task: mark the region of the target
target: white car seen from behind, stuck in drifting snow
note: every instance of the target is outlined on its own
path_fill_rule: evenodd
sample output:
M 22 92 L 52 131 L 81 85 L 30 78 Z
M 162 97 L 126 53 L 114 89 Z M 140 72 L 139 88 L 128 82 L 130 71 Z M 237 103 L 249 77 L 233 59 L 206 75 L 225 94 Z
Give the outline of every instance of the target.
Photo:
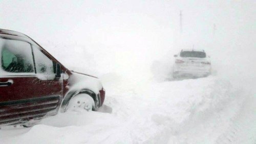
M 210 56 L 204 50 L 181 50 L 174 55 L 173 77 L 206 77 L 211 74 Z

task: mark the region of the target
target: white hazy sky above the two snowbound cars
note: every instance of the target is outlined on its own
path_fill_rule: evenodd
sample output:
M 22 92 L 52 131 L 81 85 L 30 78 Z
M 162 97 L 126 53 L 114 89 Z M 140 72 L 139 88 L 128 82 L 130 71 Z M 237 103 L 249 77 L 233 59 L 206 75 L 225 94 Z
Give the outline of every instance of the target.
M 172 57 L 180 49 L 193 45 L 208 51 L 216 63 L 229 61 L 226 63 L 229 65 L 240 63 L 241 59 L 246 63 L 254 60 L 255 8 L 253 0 L 2 0 L 0 28 L 23 32 L 39 43 L 83 45 L 100 57 L 99 61 L 105 61 L 99 62 L 99 66 L 114 63 L 115 67 L 121 67 L 119 71 L 148 66 L 153 60 Z

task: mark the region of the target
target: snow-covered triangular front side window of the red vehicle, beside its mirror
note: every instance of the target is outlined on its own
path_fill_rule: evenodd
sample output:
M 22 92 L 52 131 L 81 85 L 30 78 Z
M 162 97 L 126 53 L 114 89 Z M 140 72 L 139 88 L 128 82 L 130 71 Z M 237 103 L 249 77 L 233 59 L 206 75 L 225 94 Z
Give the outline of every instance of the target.
M 35 57 L 36 73 L 48 80 L 54 79 L 55 73 L 53 61 L 42 53 L 40 48 L 37 46 L 33 46 L 33 52 Z

